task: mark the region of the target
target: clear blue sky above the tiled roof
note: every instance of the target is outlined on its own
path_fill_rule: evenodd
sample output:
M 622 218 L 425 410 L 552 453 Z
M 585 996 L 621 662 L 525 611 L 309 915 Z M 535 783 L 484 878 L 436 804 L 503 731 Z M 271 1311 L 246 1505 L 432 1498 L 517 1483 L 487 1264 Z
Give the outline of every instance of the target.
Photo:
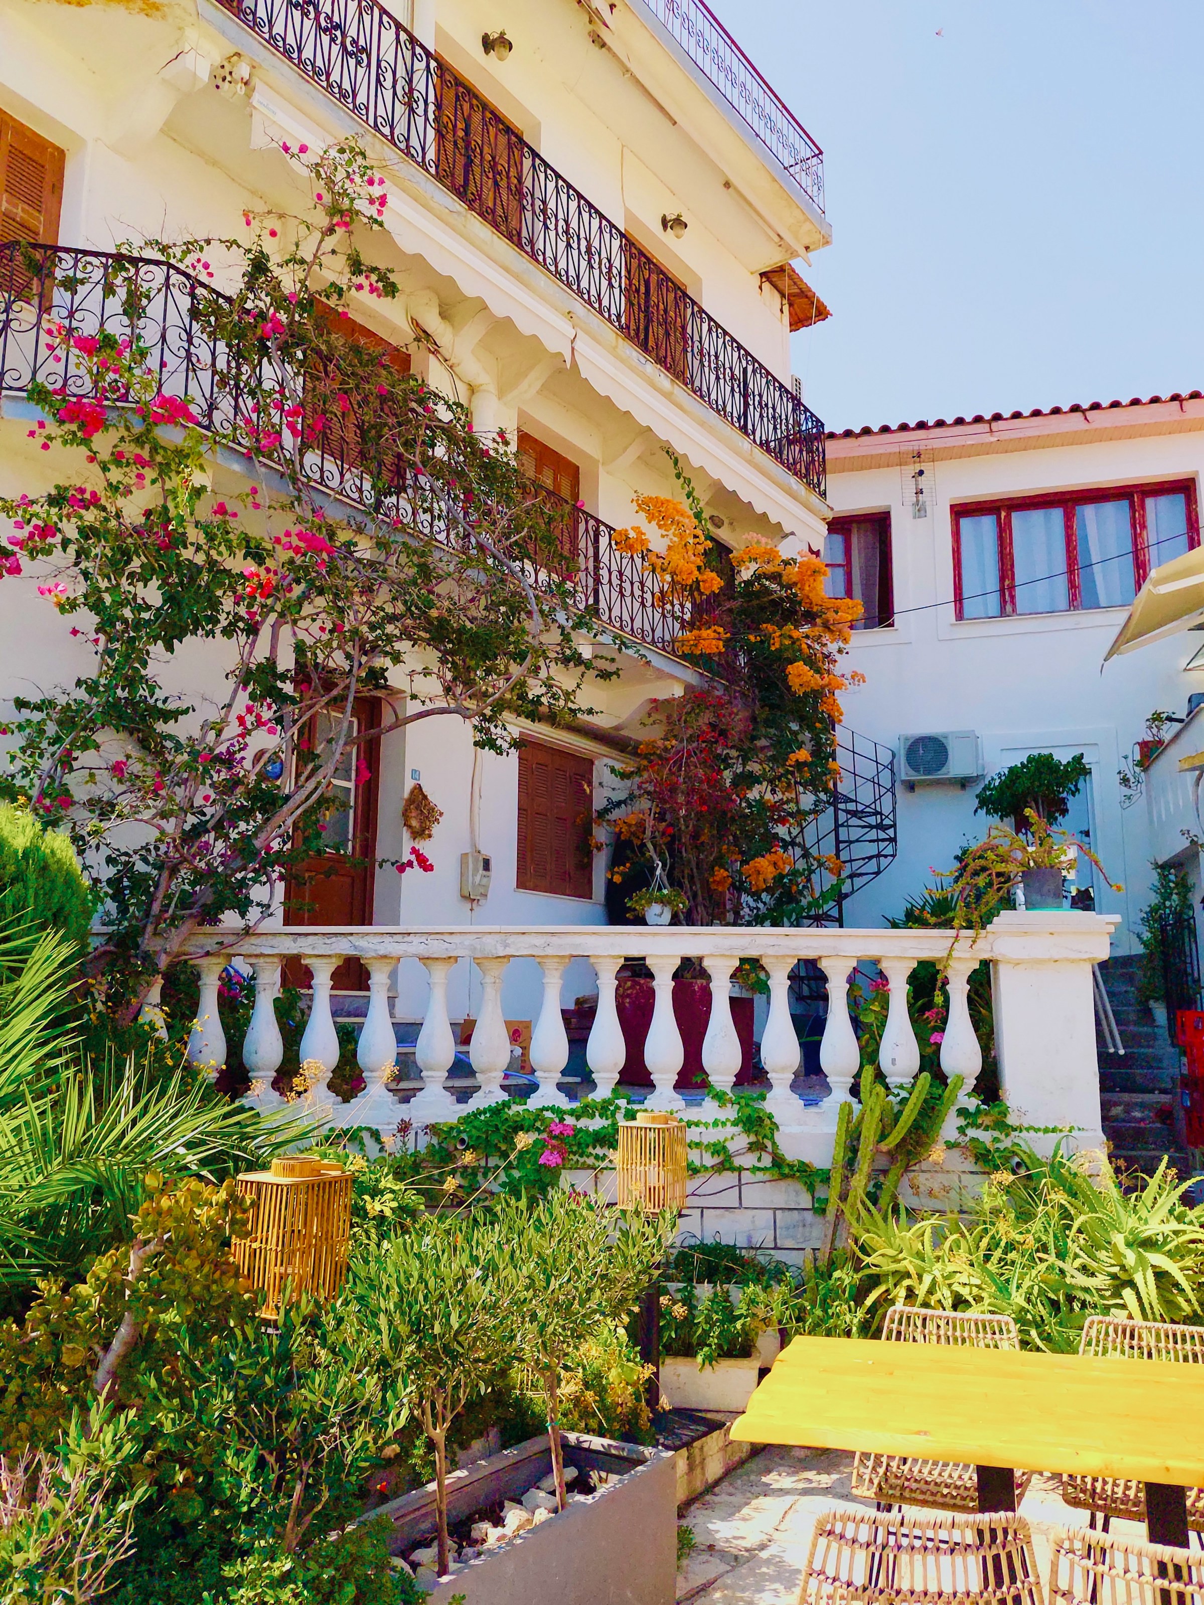
M 824 148 L 830 429 L 1204 388 L 1204 0 L 711 8 Z

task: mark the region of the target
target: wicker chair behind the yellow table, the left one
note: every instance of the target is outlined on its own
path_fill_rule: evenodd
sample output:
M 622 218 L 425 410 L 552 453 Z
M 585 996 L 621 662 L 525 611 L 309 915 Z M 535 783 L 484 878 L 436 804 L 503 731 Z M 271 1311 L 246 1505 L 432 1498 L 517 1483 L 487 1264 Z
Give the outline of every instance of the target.
M 950 1343 L 960 1348 L 1019 1348 L 1010 1314 L 950 1314 L 896 1305 L 886 1316 L 883 1342 Z M 1032 1472 L 1016 1472 L 1016 1502 L 1024 1497 Z M 852 1467 L 852 1493 L 877 1501 L 928 1505 L 934 1510 L 978 1510 L 978 1475 L 973 1465 L 954 1461 L 917 1461 L 902 1454 L 859 1454 Z

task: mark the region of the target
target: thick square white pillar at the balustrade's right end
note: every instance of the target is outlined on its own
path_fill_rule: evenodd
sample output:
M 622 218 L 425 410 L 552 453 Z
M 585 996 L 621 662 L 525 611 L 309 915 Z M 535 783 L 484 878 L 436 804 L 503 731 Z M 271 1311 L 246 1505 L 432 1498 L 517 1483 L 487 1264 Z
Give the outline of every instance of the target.
M 1119 921 L 1079 910 L 1008 912 L 989 926 L 1000 1093 L 1026 1125 L 1069 1127 L 1069 1148 L 1103 1148 L 1092 965 Z M 1027 1138 L 1048 1154 L 1056 1135 Z

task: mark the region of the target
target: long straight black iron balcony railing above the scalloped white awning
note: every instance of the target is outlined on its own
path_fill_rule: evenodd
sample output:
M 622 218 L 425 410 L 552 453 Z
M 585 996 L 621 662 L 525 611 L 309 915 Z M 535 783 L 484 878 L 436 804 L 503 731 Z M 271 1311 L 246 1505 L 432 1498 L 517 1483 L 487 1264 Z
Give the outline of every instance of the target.
M 816 414 L 379 0 L 222 3 L 824 496 Z

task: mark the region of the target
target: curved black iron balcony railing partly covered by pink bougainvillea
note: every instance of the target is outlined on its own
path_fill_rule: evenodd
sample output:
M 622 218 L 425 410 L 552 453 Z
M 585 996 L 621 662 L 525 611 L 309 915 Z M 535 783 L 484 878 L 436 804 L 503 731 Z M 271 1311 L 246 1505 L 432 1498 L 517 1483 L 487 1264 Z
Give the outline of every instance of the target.
M 24 395 L 42 380 L 69 396 L 95 395 L 92 374 L 58 329 L 71 335 L 109 331 L 141 347 L 148 371 L 159 374 L 167 395 L 188 400 L 202 429 L 250 448 L 255 421 L 247 396 L 255 387 L 239 382 L 236 364 L 212 332 L 215 302 L 222 300 L 220 291 L 149 257 L 2 244 L 0 392 Z M 294 388 L 303 395 L 305 376 Z M 413 472 L 369 472 L 350 432 L 308 451 L 302 469 L 310 483 L 352 507 L 398 514 L 409 528 L 446 544 L 464 534 L 462 506 Z M 682 608 L 658 602 L 641 559 L 615 546 L 612 525 L 552 499 L 560 502 L 559 552 L 551 562 L 547 554 L 531 555 L 535 583 L 552 576 L 568 581 L 576 602 L 592 607 L 604 624 L 673 652 L 677 634 L 697 623 L 694 613 L 687 618 Z

